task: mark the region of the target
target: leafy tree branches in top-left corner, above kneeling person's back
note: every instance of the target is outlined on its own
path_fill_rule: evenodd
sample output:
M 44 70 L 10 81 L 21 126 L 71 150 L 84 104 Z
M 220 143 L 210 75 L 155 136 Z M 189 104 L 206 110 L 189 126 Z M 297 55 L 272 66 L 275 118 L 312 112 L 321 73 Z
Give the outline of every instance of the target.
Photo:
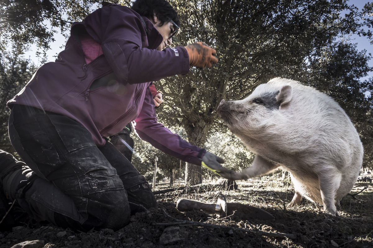
M 131 0 L 110 0 L 130 6 Z M 18 52 L 35 44 L 45 55 L 55 33 L 69 36 L 73 22 L 101 6 L 100 0 L 0 0 L 0 50 L 18 44 Z M 58 52 L 58 51 L 57 51 Z

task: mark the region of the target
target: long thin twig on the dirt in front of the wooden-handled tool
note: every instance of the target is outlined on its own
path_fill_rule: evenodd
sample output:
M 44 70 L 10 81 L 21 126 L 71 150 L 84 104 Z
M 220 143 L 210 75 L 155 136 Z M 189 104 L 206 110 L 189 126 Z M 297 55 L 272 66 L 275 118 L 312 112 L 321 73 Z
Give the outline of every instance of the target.
M 229 229 L 235 229 L 239 231 L 244 232 L 251 232 L 259 236 L 267 236 L 272 238 L 289 238 L 289 239 L 296 239 L 297 235 L 290 234 L 290 233 L 280 233 L 280 232 L 264 232 L 264 231 L 253 231 L 238 227 L 232 227 L 232 226 L 223 226 L 223 225 L 214 225 L 204 222 L 197 222 L 197 221 L 190 221 L 190 220 L 178 220 L 178 222 L 164 222 L 164 223 L 153 223 L 155 226 L 175 226 L 175 225 L 192 225 L 192 226 L 201 226 L 201 227 L 208 227 L 208 228 L 229 228 Z

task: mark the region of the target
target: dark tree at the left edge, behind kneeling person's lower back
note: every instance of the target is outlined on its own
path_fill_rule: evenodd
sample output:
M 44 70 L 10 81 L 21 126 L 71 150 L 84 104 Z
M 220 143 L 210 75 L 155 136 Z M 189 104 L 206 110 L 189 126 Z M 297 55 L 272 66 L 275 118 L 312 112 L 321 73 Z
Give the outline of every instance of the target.
M 0 149 L 15 154 L 9 141 L 9 108 L 6 103 L 12 99 L 32 77 L 36 67 L 17 52 L 0 52 Z

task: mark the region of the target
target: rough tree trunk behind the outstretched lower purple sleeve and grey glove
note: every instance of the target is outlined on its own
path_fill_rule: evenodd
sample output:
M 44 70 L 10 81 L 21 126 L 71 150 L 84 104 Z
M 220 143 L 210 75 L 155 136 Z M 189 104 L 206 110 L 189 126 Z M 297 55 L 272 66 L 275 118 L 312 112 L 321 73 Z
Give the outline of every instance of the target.
M 203 147 L 207 133 L 210 130 L 211 124 L 207 124 L 202 117 L 198 123 L 188 123 L 185 125 L 185 131 L 188 135 L 189 143 Z M 202 168 L 201 166 L 187 163 L 185 167 L 185 185 L 196 185 L 202 183 Z

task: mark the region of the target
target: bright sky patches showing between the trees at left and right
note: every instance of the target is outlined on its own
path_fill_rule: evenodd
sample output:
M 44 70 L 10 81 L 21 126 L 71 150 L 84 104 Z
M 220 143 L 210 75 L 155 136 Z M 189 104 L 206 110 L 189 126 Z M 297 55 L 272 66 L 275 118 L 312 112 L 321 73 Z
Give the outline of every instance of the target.
M 357 6 L 360 10 L 364 6 L 364 3 L 366 3 L 366 0 L 355 0 L 355 1 L 349 1 L 350 4 L 354 4 Z M 57 54 L 64 49 L 65 43 L 66 43 L 66 38 L 63 37 L 62 34 L 58 33 L 54 36 L 55 41 L 50 44 L 51 49 L 48 50 L 47 53 L 47 62 L 49 61 L 54 61 L 57 57 Z M 373 55 L 373 45 L 370 44 L 369 39 L 366 37 L 359 37 L 358 35 L 353 35 L 351 36 L 352 43 L 357 44 L 357 49 L 358 51 L 366 50 L 367 53 L 372 53 Z M 36 57 L 36 51 L 37 48 L 36 46 L 31 46 L 30 51 L 25 53 L 26 58 L 30 58 L 36 65 L 40 65 L 41 58 Z M 368 62 L 368 65 L 370 67 L 373 67 L 373 59 L 371 59 Z M 361 78 L 361 80 L 365 80 L 368 78 L 373 77 L 373 72 L 371 71 L 366 77 Z

